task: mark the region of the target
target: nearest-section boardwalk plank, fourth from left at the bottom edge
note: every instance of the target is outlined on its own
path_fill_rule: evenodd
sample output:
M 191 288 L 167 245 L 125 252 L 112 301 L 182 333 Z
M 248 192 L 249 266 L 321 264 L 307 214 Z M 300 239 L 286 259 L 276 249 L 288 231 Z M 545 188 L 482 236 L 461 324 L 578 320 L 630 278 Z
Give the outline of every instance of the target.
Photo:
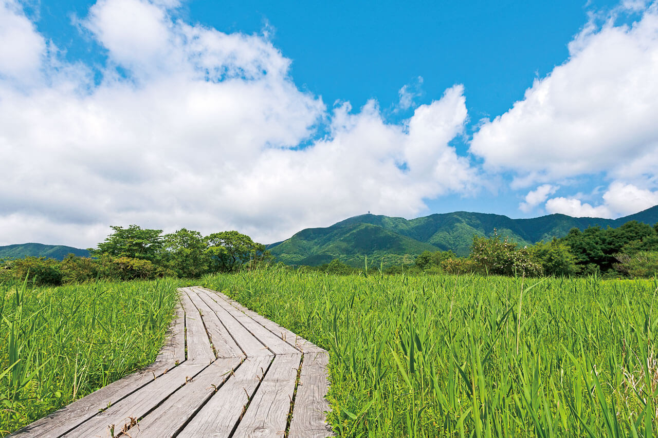
M 222 387 L 197 412 L 178 438 L 228 437 L 240 421 L 273 356 L 247 357 Z M 234 435 L 238 437 L 238 435 Z

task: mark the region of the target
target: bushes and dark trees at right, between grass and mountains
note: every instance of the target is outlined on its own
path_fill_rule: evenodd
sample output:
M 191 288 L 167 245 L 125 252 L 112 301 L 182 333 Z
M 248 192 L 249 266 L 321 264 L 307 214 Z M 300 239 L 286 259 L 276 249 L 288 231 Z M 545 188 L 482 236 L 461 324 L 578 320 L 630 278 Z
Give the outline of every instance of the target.
M 652 227 L 633 220 L 605 230 L 574 228 L 561 239 L 524 247 L 494 230 L 491 237 L 473 237 L 468 257 L 457 257 L 452 251 L 425 251 L 416 258 L 415 271 L 647 278 L 658 272 L 658 224 Z

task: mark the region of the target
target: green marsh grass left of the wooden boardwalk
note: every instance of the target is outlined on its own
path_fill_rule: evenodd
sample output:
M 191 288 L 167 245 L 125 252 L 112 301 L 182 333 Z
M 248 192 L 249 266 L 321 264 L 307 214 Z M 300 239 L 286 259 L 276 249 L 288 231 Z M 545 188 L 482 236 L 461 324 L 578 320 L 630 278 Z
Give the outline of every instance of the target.
M 178 283 L 0 284 L 0 436 L 151 364 Z

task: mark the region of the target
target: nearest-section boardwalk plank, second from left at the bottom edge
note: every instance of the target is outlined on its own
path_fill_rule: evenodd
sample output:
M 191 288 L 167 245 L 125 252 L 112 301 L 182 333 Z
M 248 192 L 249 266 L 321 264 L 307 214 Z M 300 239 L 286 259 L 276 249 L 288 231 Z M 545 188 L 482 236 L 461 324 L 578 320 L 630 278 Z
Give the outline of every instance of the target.
M 189 364 L 177 366 L 170 372 L 158 377 L 145 387 L 132 393 L 125 399 L 113 404 L 103 412 L 90 418 L 72 431 L 66 433 L 68 438 L 88 438 L 111 436 L 111 428 L 114 434 L 118 434 L 125 424 L 130 425 L 131 419 L 137 420 L 151 412 L 164 399 L 176 392 L 187 381 L 193 379 L 199 372 L 207 368 L 209 364 Z

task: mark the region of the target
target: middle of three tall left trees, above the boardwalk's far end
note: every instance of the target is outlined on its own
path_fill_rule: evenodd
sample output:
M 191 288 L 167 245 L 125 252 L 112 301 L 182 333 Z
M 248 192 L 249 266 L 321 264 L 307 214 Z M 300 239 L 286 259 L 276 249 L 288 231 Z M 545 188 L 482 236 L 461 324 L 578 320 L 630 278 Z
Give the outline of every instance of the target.
M 208 245 L 199 231 L 182 228 L 175 233 L 165 234 L 163 247 L 166 251 L 167 264 L 176 276 L 197 278 L 207 271 Z

